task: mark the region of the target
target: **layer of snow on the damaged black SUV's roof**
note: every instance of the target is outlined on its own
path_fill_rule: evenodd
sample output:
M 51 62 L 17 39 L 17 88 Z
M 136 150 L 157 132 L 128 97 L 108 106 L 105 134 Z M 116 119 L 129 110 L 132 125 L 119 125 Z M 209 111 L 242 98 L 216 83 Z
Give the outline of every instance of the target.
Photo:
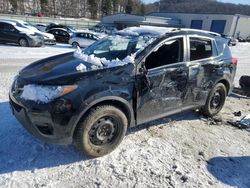
M 118 35 L 130 35 L 130 36 L 140 36 L 140 35 L 161 36 L 173 31 L 174 29 L 176 28 L 140 26 L 140 27 L 128 27 L 116 33 Z

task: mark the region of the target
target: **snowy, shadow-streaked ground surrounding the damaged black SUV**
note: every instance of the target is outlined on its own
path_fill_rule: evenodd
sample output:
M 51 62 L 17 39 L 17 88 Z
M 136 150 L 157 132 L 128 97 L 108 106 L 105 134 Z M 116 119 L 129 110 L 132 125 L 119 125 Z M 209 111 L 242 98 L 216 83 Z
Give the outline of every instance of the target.
M 71 50 L 40 50 L 47 48 L 41 53 Z M 73 146 L 35 139 L 11 114 L 8 89 L 20 62 L 31 58 L 27 52 L 12 61 L 19 50 L 0 46 L 5 63 L 11 62 L 2 65 L 0 55 L 0 187 L 250 187 L 250 133 L 225 123 L 235 111 L 250 113 L 249 98 L 228 97 L 222 123 L 188 112 L 129 129 L 113 153 L 90 159 Z M 250 44 L 232 51 L 239 59 L 237 76 L 249 74 Z

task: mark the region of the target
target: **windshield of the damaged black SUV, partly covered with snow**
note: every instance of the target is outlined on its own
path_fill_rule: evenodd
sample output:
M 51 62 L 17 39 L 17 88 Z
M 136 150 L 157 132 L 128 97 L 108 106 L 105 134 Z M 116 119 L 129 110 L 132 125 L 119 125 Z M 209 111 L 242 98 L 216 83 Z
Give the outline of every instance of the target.
M 83 52 L 86 55 L 94 55 L 107 60 L 122 60 L 143 50 L 154 39 L 150 36 L 110 36 L 95 42 Z

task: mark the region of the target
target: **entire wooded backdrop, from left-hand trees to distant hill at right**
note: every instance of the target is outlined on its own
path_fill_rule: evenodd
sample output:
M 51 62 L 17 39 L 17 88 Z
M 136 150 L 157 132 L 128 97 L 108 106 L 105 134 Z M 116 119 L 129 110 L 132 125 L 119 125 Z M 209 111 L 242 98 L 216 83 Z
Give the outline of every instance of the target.
M 115 13 L 144 15 L 149 12 L 225 13 L 250 15 L 249 5 L 216 0 L 0 0 L 0 13 L 38 16 L 101 18 Z

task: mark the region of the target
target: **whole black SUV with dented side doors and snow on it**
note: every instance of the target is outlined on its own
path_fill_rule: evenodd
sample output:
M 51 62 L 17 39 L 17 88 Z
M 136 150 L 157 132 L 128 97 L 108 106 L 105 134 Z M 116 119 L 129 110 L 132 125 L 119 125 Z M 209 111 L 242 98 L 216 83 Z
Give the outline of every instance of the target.
M 214 116 L 231 92 L 237 60 L 216 33 L 127 28 L 81 51 L 32 63 L 10 104 L 35 137 L 98 157 L 127 128 L 190 109 Z

